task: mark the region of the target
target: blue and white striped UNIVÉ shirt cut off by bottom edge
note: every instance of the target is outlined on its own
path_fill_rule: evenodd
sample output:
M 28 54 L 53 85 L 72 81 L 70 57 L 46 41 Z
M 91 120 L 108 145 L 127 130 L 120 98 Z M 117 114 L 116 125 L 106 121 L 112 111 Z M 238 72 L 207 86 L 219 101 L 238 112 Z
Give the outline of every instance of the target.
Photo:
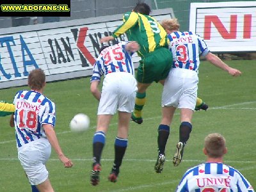
M 253 192 L 251 184 L 231 166 L 204 163 L 189 169 L 176 192 Z

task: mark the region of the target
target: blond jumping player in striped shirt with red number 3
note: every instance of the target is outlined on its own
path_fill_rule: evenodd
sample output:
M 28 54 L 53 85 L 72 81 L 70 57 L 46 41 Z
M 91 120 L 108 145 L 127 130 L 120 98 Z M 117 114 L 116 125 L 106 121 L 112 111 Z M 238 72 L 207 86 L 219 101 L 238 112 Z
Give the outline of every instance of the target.
M 225 70 L 231 76 L 237 77 L 241 72 L 229 67 L 212 54 L 204 40 L 191 31 L 179 31 L 177 19 L 166 19 L 161 22 L 170 40 L 170 51 L 173 54 L 173 65 L 162 94 L 162 120 L 158 127 L 158 156 L 155 165 L 156 173 L 163 171 L 165 161 L 165 147 L 170 134 L 170 125 L 177 108 L 180 109 L 179 142 L 173 156 L 174 166 L 182 160 L 184 147 L 192 131 L 192 116 L 196 106 L 198 90 L 199 56 L 204 56 L 212 65 Z

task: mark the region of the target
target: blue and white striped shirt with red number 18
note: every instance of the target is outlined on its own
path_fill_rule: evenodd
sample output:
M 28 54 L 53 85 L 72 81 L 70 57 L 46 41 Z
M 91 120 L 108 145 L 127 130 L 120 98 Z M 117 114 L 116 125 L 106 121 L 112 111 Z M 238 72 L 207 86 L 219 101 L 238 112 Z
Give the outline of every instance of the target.
M 55 104 L 42 93 L 21 90 L 16 93 L 14 122 L 17 148 L 26 143 L 46 138 L 43 124 L 55 125 Z

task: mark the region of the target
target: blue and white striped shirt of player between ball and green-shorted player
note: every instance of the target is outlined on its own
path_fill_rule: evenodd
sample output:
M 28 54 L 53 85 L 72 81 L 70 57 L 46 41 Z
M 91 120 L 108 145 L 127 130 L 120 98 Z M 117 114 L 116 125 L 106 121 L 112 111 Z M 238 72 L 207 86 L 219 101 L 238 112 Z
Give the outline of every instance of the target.
M 134 65 L 131 58 L 134 52 L 125 51 L 125 44 L 127 43 L 120 42 L 100 52 L 93 66 L 91 82 L 100 81 L 101 76 L 106 76 L 112 72 L 128 72 L 134 76 Z

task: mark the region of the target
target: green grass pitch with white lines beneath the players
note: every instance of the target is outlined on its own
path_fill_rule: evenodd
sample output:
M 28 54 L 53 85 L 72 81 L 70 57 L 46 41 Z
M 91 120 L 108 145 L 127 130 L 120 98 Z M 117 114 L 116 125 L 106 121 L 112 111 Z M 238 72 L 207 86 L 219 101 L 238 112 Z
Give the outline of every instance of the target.
M 208 111 L 196 111 L 193 131 L 184 151 L 184 161 L 174 167 L 172 156 L 179 139 L 179 111 L 175 114 L 166 147 L 164 171 L 154 172 L 157 157 L 157 127 L 161 120 L 161 84 L 152 84 L 147 91 L 147 104 L 141 125 L 131 122 L 129 145 L 118 177 L 118 182 L 108 181 L 114 156 L 116 115 L 113 117 L 102 154 L 102 172 L 99 186 L 91 186 L 92 138 L 96 125 L 97 100 L 90 93 L 90 78 L 48 83 L 45 95 L 56 103 L 56 127 L 60 145 L 72 159 L 72 168 L 63 168 L 54 150 L 47 163 L 49 178 L 55 191 L 175 191 L 183 173 L 205 161 L 202 153 L 204 138 L 219 132 L 227 140 L 228 154 L 225 163 L 237 168 L 256 188 L 255 110 L 256 61 L 227 61 L 239 68 L 243 75 L 231 77 L 227 72 L 202 62 L 199 72 L 198 97 L 209 104 Z M 12 102 L 20 89 L 0 90 L 1 100 Z M 90 129 L 82 134 L 70 132 L 68 124 L 76 113 L 90 116 Z M 14 129 L 9 127 L 9 116 L 0 118 L 0 191 L 31 191 L 19 160 Z

